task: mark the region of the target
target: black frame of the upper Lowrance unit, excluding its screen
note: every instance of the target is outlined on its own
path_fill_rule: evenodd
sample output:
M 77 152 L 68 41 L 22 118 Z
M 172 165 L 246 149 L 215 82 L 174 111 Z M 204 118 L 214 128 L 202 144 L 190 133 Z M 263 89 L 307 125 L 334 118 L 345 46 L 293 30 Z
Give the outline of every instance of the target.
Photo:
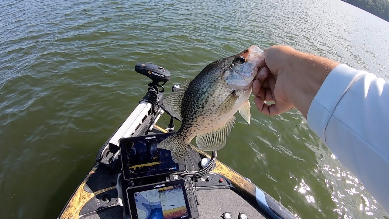
M 177 132 L 177 131 L 175 131 L 175 132 Z M 121 157 L 121 164 L 122 164 L 122 173 L 123 173 L 124 180 L 131 180 L 131 179 L 143 178 L 143 177 L 151 177 L 151 176 L 168 174 L 168 173 L 173 173 L 173 172 L 178 172 L 178 171 L 185 170 L 185 161 L 182 161 L 179 164 L 176 163 L 175 167 L 177 167 L 177 169 L 175 169 L 175 170 L 169 170 L 169 169 L 155 170 L 155 171 L 153 171 L 152 175 L 148 174 L 150 172 L 132 173 L 132 174 L 130 174 L 130 170 L 128 170 L 128 159 L 127 159 L 127 157 L 124 157 L 124 158 L 122 157 L 124 152 L 126 154 L 126 151 L 127 151 L 126 145 L 129 144 L 129 143 L 130 144 L 135 144 L 135 143 L 144 142 L 144 141 L 163 140 L 163 139 L 167 138 L 168 136 L 170 136 L 171 134 L 173 134 L 175 132 L 166 132 L 166 133 L 149 134 L 149 135 L 142 135 L 142 136 L 129 137 L 129 138 L 120 138 L 119 139 L 119 150 L 120 150 L 120 157 Z M 155 136 L 155 138 L 145 139 L 145 138 L 150 138 L 150 137 L 154 137 L 154 136 Z M 130 150 L 131 150 L 131 148 L 130 148 Z M 165 149 L 158 148 L 158 150 L 165 150 Z

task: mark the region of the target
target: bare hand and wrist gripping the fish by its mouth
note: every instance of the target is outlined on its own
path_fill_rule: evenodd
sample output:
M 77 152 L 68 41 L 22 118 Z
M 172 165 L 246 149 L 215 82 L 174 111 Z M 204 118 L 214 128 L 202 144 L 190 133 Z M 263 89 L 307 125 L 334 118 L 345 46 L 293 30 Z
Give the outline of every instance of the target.
M 272 46 L 264 52 L 263 67 L 252 85 L 256 107 L 266 115 L 278 115 L 296 107 L 307 118 L 317 91 L 338 64 L 290 46 Z M 268 105 L 265 101 L 275 103 Z

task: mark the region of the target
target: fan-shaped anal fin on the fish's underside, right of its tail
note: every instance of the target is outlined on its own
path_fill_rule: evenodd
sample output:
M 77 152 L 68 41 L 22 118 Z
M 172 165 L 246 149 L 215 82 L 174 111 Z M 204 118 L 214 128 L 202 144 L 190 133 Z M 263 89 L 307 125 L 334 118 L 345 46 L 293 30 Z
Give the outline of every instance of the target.
M 234 127 L 235 117 L 232 116 L 222 127 L 214 131 L 198 135 L 196 137 L 197 147 L 205 151 L 220 150 L 226 145 L 231 128 Z

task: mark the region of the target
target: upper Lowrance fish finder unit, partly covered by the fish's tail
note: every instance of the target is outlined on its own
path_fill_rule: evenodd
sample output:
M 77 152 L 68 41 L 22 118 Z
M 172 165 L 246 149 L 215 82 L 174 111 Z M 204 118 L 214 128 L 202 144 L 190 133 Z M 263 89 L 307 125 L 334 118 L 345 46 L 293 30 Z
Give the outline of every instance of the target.
M 157 148 L 159 142 L 174 132 L 144 135 L 119 140 L 124 180 L 185 170 L 185 163 L 175 163 L 170 150 Z

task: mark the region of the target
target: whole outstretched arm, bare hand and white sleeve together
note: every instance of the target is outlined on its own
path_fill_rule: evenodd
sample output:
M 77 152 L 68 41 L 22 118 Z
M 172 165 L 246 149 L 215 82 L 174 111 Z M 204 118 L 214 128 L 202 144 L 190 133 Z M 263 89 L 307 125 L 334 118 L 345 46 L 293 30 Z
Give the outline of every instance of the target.
M 259 111 L 277 115 L 294 105 L 389 211 L 389 82 L 288 46 L 265 50 L 265 62 L 273 75 L 253 84 Z M 266 105 L 266 99 L 275 104 Z

